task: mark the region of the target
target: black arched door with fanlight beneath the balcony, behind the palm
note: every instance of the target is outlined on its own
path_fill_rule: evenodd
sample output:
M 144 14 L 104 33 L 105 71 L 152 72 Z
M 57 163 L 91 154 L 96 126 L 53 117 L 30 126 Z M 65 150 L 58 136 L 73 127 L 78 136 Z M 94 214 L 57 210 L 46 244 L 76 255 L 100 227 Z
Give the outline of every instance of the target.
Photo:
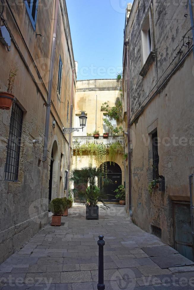
M 115 198 L 115 189 L 122 184 L 122 171 L 120 166 L 115 162 L 105 162 L 101 165 L 104 172 L 107 172 L 107 177 L 112 181 L 112 184 L 104 187 L 104 192 L 107 194 L 105 202 L 118 203 L 118 199 Z M 101 185 L 101 184 L 100 184 Z

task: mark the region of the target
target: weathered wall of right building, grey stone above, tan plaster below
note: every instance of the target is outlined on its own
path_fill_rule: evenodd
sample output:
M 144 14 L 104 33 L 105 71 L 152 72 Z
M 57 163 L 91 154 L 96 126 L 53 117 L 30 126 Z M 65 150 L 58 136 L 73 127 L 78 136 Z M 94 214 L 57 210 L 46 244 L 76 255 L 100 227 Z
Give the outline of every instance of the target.
M 139 75 L 144 65 L 141 29 L 149 10 L 155 60 L 142 77 Z M 185 14 L 188 16 L 184 17 Z M 172 200 L 189 201 L 188 175 L 193 171 L 194 61 L 192 50 L 187 45 L 182 47 L 182 36 L 191 26 L 189 15 L 187 4 L 134 1 L 126 28 L 130 59 L 133 220 L 147 231 L 151 231 L 151 225 L 161 228 L 162 240 L 172 246 Z M 190 31 L 186 36 L 191 34 Z M 181 47 L 181 53 L 177 54 Z M 125 88 L 126 82 L 123 84 Z M 150 134 L 156 128 L 159 175 L 165 177 L 166 190 L 161 193 L 156 189 L 150 195 L 147 189 L 153 179 Z

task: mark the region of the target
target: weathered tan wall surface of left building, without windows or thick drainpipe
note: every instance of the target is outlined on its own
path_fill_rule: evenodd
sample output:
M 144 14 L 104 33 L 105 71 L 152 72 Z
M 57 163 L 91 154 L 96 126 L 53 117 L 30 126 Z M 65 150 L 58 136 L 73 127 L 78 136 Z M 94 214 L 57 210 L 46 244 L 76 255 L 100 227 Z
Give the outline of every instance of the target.
M 58 165 L 55 176 L 53 175 L 56 187 L 52 194 L 53 197 L 66 194 L 64 171 L 67 170 L 69 136 L 63 135 L 62 128 L 69 126 L 67 100 L 69 100 L 70 116 L 74 59 L 67 11 L 63 1 L 60 1 L 58 12 L 48 155 L 47 160 L 42 162 L 54 13 L 55 1 L 49 1 L 49 4 L 47 1 L 41 1 L 38 7 L 36 31 L 34 31 L 25 4 L 13 5 L 12 3 L 10 9 L 5 5 L 3 14 L 5 22 L 1 22 L 1 25 L 5 24 L 9 29 L 12 45 L 11 51 L 8 52 L 0 43 L 0 91 L 7 91 L 10 67 L 18 66 L 14 95 L 24 114 L 18 182 L 9 182 L 5 181 L 4 167 L 11 110 L 0 110 L 0 262 L 19 249 L 48 222 L 50 157 L 54 142 L 58 147 Z M 42 36 L 36 37 L 36 33 Z M 63 61 L 60 101 L 56 91 L 59 54 Z M 73 106 L 75 84 L 76 75 L 74 75 Z M 53 119 L 56 120 L 55 128 L 53 128 Z M 39 144 L 33 144 L 34 139 L 39 140 Z M 62 158 L 61 153 L 64 153 Z

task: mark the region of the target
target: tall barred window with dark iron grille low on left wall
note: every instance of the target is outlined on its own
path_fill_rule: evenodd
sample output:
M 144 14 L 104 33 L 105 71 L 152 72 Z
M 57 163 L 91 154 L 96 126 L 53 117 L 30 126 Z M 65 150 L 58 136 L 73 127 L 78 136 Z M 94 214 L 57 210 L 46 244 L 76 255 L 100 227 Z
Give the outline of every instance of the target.
M 10 119 L 5 180 L 18 181 L 23 111 L 14 103 Z

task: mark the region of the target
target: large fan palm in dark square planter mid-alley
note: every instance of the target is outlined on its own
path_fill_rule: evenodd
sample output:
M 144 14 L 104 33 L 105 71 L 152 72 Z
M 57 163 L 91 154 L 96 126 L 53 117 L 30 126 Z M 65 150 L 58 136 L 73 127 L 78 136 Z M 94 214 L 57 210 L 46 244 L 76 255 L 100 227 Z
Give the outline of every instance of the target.
M 70 181 L 74 183 L 72 191 L 74 195 L 78 196 L 80 202 L 86 206 L 87 220 L 98 220 L 99 207 L 104 210 L 109 208 L 104 203 L 106 196 L 103 186 L 101 188 L 97 186 L 98 180 L 102 181 L 103 186 L 111 184 L 105 173 L 100 168 L 92 167 L 92 165 L 83 167 L 80 170 L 72 169 L 70 173 Z

